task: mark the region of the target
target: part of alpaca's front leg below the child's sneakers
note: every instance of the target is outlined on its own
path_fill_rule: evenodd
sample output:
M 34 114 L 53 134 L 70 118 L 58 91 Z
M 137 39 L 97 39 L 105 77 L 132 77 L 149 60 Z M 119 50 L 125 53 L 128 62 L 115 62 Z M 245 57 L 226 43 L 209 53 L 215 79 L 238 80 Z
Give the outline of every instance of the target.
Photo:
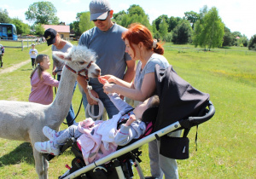
M 35 159 L 36 170 L 38 173 L 39 179 L 47 179 L 48 178 L 48 162 L 45 161 L 42 153 L 38 153 L 38 151 L 33 148 L 33 155 Z M 45 165 L 47 163 L 47 165 Z

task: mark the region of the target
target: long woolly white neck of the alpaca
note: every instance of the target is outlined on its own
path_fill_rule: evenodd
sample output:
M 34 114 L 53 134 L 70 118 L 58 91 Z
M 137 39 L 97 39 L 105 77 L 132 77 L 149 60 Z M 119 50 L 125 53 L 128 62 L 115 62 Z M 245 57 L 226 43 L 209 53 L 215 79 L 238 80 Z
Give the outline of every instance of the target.
M 50 109 L 55 112 L 55 124 L 61 125 L 64 118 L 67 117 L 71 101 L 73 98 L 73 86 L 76 81 L 76 75 L 63 67 L 61 72 L 61 81 L 55 96 L 55 100 L 50 105 Z

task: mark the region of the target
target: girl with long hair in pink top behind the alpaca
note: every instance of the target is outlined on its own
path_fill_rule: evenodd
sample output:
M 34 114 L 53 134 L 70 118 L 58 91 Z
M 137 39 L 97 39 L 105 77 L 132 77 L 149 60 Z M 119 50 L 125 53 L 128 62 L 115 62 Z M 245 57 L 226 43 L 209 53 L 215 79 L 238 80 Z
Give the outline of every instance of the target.
M 37 102 L 49 105 L 53 101 L 53 86 L 58 87 L 59 81 L 51 77 L 49 72 L 49 56 L 38 55 L 36 58 L 36 68 L 31 73 L 31 93 L 29 95 L 30 102 Z

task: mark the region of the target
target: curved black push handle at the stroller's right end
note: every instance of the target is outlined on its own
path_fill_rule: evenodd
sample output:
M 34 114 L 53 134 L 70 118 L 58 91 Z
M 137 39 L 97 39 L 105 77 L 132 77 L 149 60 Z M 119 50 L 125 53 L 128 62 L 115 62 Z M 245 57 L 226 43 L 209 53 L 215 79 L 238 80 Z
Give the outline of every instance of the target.
M 202 123 L 206 122 L 207 120 L 212 118 L 212 116 L 215 113 L 215 107 L 213 106 L 212 101 L 209 101 L 207 107 L 209 107 L 209 110 L 207 110 L 206 115 L 201 116 L 201 117 L 189 117 L 187 119 L 183 119 L 183 120 L 179 121 L 179 123 L 181 124 L 181 126 L 183 128 L 191 128 L 195 125 L 202 124 Z

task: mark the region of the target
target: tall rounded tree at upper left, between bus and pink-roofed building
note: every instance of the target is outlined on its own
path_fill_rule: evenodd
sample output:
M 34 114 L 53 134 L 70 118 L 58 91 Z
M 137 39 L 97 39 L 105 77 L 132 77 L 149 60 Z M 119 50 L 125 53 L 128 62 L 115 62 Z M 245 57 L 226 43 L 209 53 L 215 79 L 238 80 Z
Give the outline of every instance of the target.
M 26 20 L 33 21 L 35 24 L 59 24 L 56 16 L 57 10 L 50 2 L 32 3 L 26 11 Z

